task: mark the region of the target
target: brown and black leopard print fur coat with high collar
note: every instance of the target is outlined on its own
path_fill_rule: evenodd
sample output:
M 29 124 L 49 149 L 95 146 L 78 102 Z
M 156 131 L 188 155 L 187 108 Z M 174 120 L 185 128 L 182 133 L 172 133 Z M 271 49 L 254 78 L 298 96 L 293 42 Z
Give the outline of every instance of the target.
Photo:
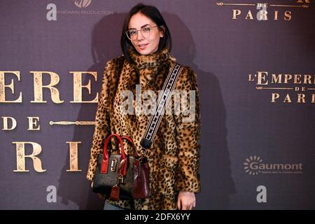
M 106 64 L 87 171 L 87 179 L 90 181 L 94 178 L 97 158 L 102 153 L 104 141 L 109 134 L 127 135 L 133 139 L 136 148 L 141 149 L 140 141 L 150 115 L 120 113 L 120 105 L 123 105 L 125 100 L 120 94 L 124 90 L 130 90 L 135 96 L 138 85 L 141 92 L 153 90 L 158 96 L 158 90 L 162 89 L 169 69 L 176 61 L 167 49 L 151 55 L 139 55 L 134 48 L 130 48 L 129 52 L 134 63 L 131 64 L 124 56 L 120 56 Z M 151 197 L 118 202 L 108 200 L 111 204 L 125 209 L 176 209 L 179 191 L 200 192 L 200 101 L 193 69 L 184 66 L 174 90 L 195 90 L 195 111 L 189 115 L 181 111 L 177 114 L 165 113 L 163 116 L 153 144 L 146 151 L 150 167 Z M 144 98 L 141 97 L 141 105 L 148 100 Z M 176 105 L 174 98 L 172 97 L 169 103 L 172 109 Z M 183 99 L 186 99 L 186 102 L 183 102 Z M 189 105 L 190 98 L 183 99 L 181 104 Z M 133 104 L 136 105 L 135 99 Z M 183 122 L 185 117 L 192 115 L 193 120 Z M 127 154 L 133 150 L 125 144 Z

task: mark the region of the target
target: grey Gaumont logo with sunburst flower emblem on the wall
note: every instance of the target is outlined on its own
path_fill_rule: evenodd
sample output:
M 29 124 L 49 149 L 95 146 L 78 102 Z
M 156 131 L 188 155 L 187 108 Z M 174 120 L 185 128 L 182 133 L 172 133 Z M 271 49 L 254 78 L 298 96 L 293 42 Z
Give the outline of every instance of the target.
M 246 158 L 243 165 L 246 174 L 253 176 L 258 174 L 302 174 L 302 163 L 267 163 L 256 155 Z

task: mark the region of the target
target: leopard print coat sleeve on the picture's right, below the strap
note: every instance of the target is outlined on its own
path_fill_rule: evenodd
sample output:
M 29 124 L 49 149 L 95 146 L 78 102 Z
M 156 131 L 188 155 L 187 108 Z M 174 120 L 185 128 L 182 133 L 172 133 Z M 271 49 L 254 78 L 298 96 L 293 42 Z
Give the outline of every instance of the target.
M 179 165 L 176 171 L 176 190 L 199 193 L 200 188 L 200 99 L 197 77 L 193 69 L 185 67 L 176 83 L 177 90 L 186 90 L 188 97 L 183 98 L 181 106 L 188 105 L 186 110 L 175 116 L 176 141 L 178 146 Z M 193 91 L 190 91 L 193 90 Z M 193 97 L 195 94 L 195 100 Z M 191 100 L 190 100 L 191 99 Z M 190 107 L 190 109 L 189 109 Z

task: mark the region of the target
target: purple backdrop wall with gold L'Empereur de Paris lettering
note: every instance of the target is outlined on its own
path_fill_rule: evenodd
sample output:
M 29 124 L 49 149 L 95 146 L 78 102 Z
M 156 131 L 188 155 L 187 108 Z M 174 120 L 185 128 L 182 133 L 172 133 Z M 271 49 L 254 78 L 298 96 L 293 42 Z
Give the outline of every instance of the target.
M 139 1 L 0 1 L 0 209 L 102 209 L 85 179 L 104 64 Z M 315 209 L 312 0 L 142 1 L 197 73 L 197 209 Z

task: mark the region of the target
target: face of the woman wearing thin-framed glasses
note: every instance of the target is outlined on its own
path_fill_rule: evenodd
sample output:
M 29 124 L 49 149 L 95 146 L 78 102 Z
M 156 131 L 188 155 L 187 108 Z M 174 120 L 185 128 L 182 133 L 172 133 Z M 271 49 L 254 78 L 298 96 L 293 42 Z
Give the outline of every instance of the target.
M 150 36 L 147 36 L 146 34 L 143 35 L 140 31 L 144 27 L 144 29 L 146 29 L 146 25 L 151 25 L 152 29 L 150 31 Z M 163 32 L 155 26 L 156 24 L 153 20 L 140 12 L 132 15 L 132 18 L 130 18 L 128 29 L 137 30 L 131 42 L 140 55 L 150 55 L 158 50 L 160 38 L 163 37 Z

